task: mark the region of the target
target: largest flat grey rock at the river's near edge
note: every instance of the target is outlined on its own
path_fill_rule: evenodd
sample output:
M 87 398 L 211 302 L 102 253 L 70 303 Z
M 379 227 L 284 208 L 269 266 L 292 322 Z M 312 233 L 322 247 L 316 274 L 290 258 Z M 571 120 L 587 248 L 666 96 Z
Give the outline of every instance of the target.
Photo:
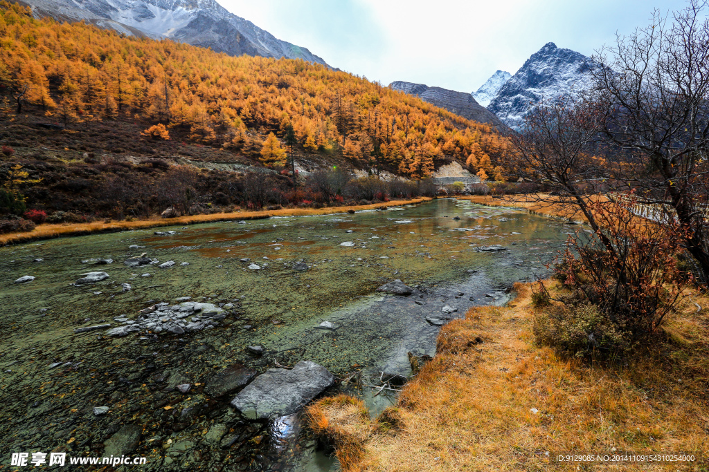
M 268 369 L 256 377 L 231 405 L 252 420 L 292 415 L 335 381 L 325 367 L 301 361 L 293 369 Z

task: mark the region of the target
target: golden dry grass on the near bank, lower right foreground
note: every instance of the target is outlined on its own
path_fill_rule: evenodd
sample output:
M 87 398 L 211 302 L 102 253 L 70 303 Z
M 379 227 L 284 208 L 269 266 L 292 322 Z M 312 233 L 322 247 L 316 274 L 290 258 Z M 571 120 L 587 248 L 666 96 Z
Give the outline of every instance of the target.
M 347 470 L 708 470 L 709 297 L 688 299 L 666 343 L 629 367 L 607 367 L 535 345 L 529 287 L 515 288 L 510 306 L 476 307 L 442 328 L 436 357 L 401 394 L 401 429 L 385 434 L 369 425 L 362 460 Z M 342 417 L 327 410 L 325 418 L 333 428 Z M 704 459 L 690 466 L 552 460 L 614 449 Z

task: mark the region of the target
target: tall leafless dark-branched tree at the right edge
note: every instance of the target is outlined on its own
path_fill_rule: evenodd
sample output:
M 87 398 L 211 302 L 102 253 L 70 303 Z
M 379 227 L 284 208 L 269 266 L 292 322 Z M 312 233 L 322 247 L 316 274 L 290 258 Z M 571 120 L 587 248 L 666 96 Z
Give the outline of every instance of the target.
M 671 209 L 687 232 L 687 250 L 709 274 L 706 226 L 709 146 L 709 20 L 691 0 L 594 58 L 603 137 L 618 147 L 616 175 L 648 205 Z

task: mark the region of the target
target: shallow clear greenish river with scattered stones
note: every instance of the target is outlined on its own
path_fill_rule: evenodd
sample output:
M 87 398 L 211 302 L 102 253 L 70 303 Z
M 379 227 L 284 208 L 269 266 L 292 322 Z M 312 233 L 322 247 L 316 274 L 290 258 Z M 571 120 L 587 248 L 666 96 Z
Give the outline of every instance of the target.
M 0 418 L 9 425 L 0 432 L 0 454 L 8 464 L 10 453 L 21 451 L 101 456 L 106 439 L 138 425 L 140 444 L 132 454 L 147 456 L 149 470 L 199 464 L 206 470 L 326 471 L 334 464 L 314 452 L 296 418 L 275 426 L 247 422 L 228 407 L 230 398 L 208 400 L 204 383 L 233 364 L 263 372 L 301 359 L 340 378 L 357 371 L 408 375 L 408 352 L 435 355 L 437 324 L 464 316 L 469 306 L 503 304 L 513 282 L 548 274 L 545 264 L 573 229 L 520 210 L 434 200 L 385 211 L 0 248 Z M 176 233 L 154 234 L 168 230 Z M 481 251 L 495 245 L 505 250 Z M 140 253 L 176 264 L 123 264 Z M 96 265 L 99 259 L 113 262 Z M 308 270 L 293 270 L 300 261 Z M 90 271 L 109 277 L 73 284 Z M 13 283 L 23 275 L 36 278 Z M 394 279 L 415 293 L 376 292 Z M 227 316 L 214 328 L 179 336 L 74 333 L 122 326 L 114 318 L 130 320 L 178 297 L 214 304 Z M 444 306 L 457 311 L 446 315 Z M 320 328 L 324 321 L 333 329 Z M 248 352 L 254 345 L 263 347 L 263 356 Z M 174 388 L 188 383 L 188 393 Z M 391 401 L 372 398 L 369 388 L 350 393 L 364 396 L 372 414 Z M 94 415 L 99 405 L 109 413 Z

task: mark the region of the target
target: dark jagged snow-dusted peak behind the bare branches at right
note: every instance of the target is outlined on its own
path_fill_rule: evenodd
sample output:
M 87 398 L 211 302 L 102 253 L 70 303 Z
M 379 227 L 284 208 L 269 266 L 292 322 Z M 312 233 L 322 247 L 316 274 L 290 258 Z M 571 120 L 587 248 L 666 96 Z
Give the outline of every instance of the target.
M 540 100 L 578 96 L 589 90 L 593 67 L 598 66 L 584 54 L 548 42 L 506 81 L 487 108 L 510 128 L 519 130 L 525 115 Z

